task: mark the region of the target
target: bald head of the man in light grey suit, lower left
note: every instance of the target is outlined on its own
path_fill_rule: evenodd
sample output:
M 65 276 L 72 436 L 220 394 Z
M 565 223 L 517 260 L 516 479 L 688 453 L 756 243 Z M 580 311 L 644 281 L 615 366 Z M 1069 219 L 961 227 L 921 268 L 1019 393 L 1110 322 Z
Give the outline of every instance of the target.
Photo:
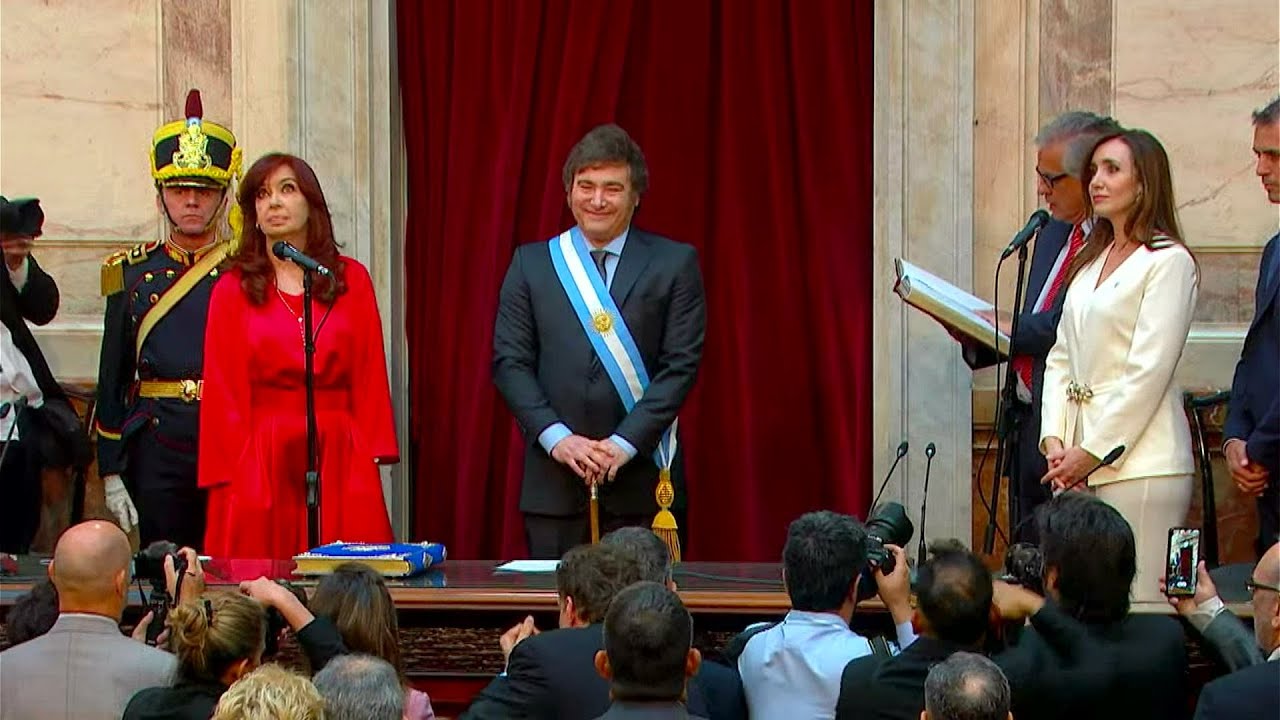
M 129 580 L 129 538 L 111 523 L 90 520 L 58 538 L 49 575 L 63 612 L 99 611 L 120 605 Z

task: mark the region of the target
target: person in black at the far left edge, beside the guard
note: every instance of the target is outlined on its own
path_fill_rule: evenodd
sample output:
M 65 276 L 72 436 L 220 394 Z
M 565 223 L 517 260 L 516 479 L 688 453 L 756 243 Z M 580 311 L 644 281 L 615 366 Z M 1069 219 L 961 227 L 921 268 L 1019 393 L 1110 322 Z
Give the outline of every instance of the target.
M 58 314 L 58 283 L 31 255 L 45 213 L 35 197 L 0 196 L 0 551 L 27 552 L 40 524 L 40 474 L 56 438 L 41 421 L 46 402 L 65 402 L 27 323 Z M 26 407 L 23 407 L 26 404 Z

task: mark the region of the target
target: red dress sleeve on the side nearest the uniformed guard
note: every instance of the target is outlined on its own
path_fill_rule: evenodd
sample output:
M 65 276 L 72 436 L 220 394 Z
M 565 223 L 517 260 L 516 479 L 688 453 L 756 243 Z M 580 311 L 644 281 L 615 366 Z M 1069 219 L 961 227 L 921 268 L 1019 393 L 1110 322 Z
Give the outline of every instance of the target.
M 200 397 L 198 483 L 202 488 L 232 482 L 250 442 L 248 346 L 244 340 L 247 301 L 239 273 L 214 286 L 205 325 L 204 388 Z

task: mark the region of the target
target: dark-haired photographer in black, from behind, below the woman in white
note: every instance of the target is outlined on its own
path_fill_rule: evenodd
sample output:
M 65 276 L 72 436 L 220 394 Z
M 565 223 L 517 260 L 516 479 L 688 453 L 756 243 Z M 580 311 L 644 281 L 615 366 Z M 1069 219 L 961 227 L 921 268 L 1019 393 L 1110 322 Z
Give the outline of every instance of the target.
M 1070 634 L 1037 624 L 1043 612 L 1032 615 L 1016 643 L 993 657 L 1012 687 L 1014 717 L 1184 716 L 1181 626 L 1164 615 L 1129 612 L 1137 573 L 1129 524 L 1110 505 L 1080 492 L 1053 498 L 1038 521 L 1050 597 L 1044 609 L 1059 610 L 1055 621 L 1083 625 L 1089 642 L 1064 646 Z M 996 584 L 997 605 L 1007 602 L 1001 598 L 1007 589 Z M 1012 602 L 1019 603 L 1025 605 Z

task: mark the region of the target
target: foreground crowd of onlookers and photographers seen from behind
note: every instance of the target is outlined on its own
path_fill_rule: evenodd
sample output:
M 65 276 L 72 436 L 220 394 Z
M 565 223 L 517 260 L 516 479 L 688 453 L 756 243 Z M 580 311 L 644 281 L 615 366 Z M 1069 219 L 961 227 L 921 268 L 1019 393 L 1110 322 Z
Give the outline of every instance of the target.
M 1189 717 L 1183 626 L 1130 609 L 1140 579 L 1129 523 L 1084 493 L 1065 493 L 1048 509 L 1037 528 L 1043 594 L 993 579 L 959 541 L 934 542 L 914 582 L 902 550 L 888 546 L 896 561 L 884 573 L 868 560 L 858 519 L 803 515 L 782 553 L 792 610 L 744 629 L 714 657 L 695 647 L 666 543 L 645 528 L 614 530 L 564 553 L 558 628 L 526 618 L 503 633 L 504 669 L 462 717 Z M 51 588 L 35 588 L 10 612 L 0 719 L 434 717 L 430 698 L 404 674 L 387 584 L 369 568 L 340 565 L 303 601 L 266 578 L 207 588 L 196 552 L 183 548 L 182 557 L 189 570 L 180 574 L 173 556 L 165 560 L 175 603 L 152 647 L 151 614 L 132 638 L 119 628 L 132 580 L 124 533 L 97 520 L 64 533 Z M 874 593 L 860 592 L 864 582 Z M 1201 692 L 1197 720 L 1275 714 L 1280 543 L 1248 585 L 1252 633 L 1203 565 L 1194 596 L 1169 600 L 1229 671 Z M 854 629 L 855 607 L 873 594 L 891 639 Z M 306 671 L 273 662 L 270 615 L 294 634 Z

